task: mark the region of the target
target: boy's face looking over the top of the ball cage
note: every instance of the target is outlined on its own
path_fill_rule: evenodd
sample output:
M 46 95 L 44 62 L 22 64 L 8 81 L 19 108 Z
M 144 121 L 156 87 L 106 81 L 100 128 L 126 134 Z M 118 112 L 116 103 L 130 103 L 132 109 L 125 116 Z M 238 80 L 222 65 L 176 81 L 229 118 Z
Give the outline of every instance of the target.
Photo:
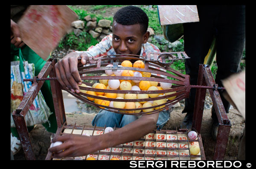
M 143 43 L 146 43 L 149 32 L 142 34 L 140 24 L 122 25 L 113 21 L 112 45 L 116 54 L 140 55 Z

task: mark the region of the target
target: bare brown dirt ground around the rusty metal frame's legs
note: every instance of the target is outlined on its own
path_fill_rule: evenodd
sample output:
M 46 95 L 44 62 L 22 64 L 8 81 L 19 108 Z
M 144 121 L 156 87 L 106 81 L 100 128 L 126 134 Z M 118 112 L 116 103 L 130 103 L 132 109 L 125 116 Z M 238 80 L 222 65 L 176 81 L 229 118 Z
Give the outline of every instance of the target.
M 182 101 L 181 101 L 182 102 Z M 176 130 L 180 127 L 180 122 L 183 120 L 185 113 L 181 113 L 183 110 L 183 104 L 180 104 L 180 107 L 176 107 L 175 110 L 171 113 L 170 119 L 166 124 L 167 130 Z M 74 125 L 88 125 L 91 126 L 91 121 L 93 120 L 95 113 L 66 113 L 67 124 Z M 231 129 L 230 135 L 227 143 L 226 154 L 224 156 L 224 160 L 236 160 L 238 154 L 238 146 L 239 146 L 239 135 L 243 131 L 244 128 L 244 119 L 240 115 L 240 113 L 232 108 L 227 114 L 230 122 Z M 215 141 L 212 139 L 210 131 L 211 131 L 211 110 L 204 109 L 203 121 L 201 127 L 201 136 L 204 144 L 204 152 L 207 160 L 212 160 L 214 149 L 215 149 Z M 163 127 L 163 129 L 165 129 Z M 35 153 L 35 157 L 37 160 L 45 160 L 48 148 L 50 146 L 50 132 L 47 132 L 45 128 L 38 124 L 29 133 L 30 139 L 32 142 L 32 148 Z M 14 155 L 15 160 L 26 160 L 24 158 L 23 149 L 20 150 L 16 155 Z

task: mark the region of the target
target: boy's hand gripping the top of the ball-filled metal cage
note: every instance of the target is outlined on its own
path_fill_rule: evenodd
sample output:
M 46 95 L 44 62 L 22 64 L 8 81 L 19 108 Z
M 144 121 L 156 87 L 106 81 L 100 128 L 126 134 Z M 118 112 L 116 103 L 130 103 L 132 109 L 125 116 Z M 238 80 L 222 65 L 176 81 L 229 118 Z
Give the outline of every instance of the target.
M 58 82 L 61 86 L 65 87 L 67 90 L 71 90 L 73 93 L 79 93 L 78 85 L 82 84 L 77 68 L 79 58 L 81 58 L 81 63 L 83 65 L 89 60 L 86 53 L 78 54 L 76 52 L 71 52 L 55 64 L 55 72 Z

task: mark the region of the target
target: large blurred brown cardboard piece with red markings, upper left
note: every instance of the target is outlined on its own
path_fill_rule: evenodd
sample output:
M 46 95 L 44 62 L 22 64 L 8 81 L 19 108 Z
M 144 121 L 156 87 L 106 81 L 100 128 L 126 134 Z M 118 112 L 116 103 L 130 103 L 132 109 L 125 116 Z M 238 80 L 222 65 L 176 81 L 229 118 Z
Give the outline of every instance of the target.
M 32 5 L 18 21 L 22 41 L 47 60 L 78 15 L 65 5 Z

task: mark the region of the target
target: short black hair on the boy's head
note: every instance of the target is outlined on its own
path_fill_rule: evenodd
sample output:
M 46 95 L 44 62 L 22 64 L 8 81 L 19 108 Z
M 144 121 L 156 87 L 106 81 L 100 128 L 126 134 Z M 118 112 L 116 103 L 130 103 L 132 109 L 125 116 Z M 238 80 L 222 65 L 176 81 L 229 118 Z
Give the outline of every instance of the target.
M 145 34 L 148 29 L 147 14 L 136 6 L 126 6 L 119 9 L 114 15 L 113 20 L 122 25 L 134 25 L 139 23 L 143 34 Z

